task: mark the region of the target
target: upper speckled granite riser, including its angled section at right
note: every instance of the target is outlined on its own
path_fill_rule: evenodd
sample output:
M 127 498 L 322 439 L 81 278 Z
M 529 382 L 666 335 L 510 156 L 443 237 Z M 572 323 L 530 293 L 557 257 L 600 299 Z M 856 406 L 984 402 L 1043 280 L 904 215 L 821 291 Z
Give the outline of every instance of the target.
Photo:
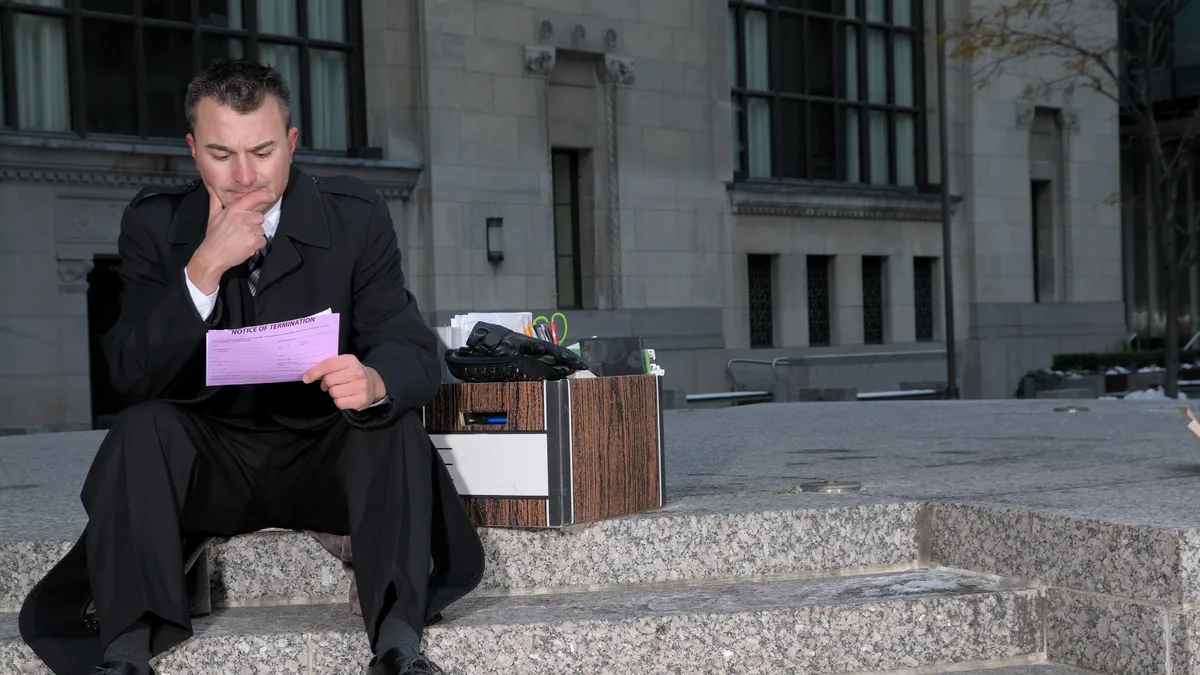
M 756 503 L 743 513 L 683 498 L 563 531 L 482 528 L 487 567 L 478 593 L 900 569 L 928 558 L 1170 610 L 1200 603 L 1200 530 L 953 501 L 856 497 L 818 507 L 791 497 L 782 508 Z M 0 542 L 0 568 L 10 571 L 0 578 L 0 610 L 16 610 L 70 545 Z M 236 537 L 214 546 L 212 563 L 217 607 L 341 602 L 348 592 L 341 563 L 301 533 Z

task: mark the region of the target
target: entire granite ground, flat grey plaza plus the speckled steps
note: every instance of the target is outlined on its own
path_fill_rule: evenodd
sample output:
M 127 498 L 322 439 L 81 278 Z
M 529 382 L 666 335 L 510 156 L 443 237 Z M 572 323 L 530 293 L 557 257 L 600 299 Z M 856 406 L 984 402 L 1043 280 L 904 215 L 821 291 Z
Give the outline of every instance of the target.
M 1068 405 L 1087 410 L 1056 411 Z M 430 631 L 431 653 L 462 673 L 998 675 L 1049 659 L 1200 674 L 1200 444 L 1177 404 L 664 416 L 667 507 L 565 531 L 481 531 L 488 573 Z M 0 437 L 0 663 L 24 664 L 18 673 L 44 671 L 2 613 L 78 536 L 78 491 L 102 437 Z M 863 490 L 796 490 L 830 478 Z M 311 539 L 251 534 L 212 555 L 223 609 L 197 622 L 164 673 L 212 653 L 230 673 L 262 671 L 252 656 L 272 653 L 301 655 L 306 675 L 318 664 L 361 673 L 344 579 Z

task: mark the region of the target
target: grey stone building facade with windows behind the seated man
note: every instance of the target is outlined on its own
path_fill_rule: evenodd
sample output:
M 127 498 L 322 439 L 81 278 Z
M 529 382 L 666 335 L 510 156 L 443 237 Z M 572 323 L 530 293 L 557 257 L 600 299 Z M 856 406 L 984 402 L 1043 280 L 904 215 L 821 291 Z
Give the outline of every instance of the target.
M 931 0 L 0 8 L 0 428 L 115 412 L 92 344 L 121 209 L 194 177 L 182 86 L 221 54 L 293 82 L 304 169 L 388 198 L 432 324 L 562 311 L 570 339 L 643 336 L 668 389 L 888 390 L 944 382 L 949 259 L 968 398 L 1126 328 L 1103 101 L 952 62 L 943 253 Z

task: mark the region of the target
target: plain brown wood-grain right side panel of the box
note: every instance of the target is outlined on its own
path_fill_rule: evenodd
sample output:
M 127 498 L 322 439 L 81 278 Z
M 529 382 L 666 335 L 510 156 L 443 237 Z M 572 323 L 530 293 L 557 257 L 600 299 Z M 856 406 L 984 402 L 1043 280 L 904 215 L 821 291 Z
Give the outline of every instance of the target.
M 662 506 L 659 378 L 568 381 L 574 522 Z

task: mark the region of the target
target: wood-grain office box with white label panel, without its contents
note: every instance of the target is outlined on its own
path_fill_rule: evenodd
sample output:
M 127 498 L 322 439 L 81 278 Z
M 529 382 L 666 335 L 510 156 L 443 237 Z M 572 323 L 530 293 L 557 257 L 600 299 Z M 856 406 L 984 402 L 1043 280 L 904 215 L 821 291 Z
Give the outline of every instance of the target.
M 425 428 L 479 526 L 646 512 L 665 495 L 660 380 L 443 384 Z

